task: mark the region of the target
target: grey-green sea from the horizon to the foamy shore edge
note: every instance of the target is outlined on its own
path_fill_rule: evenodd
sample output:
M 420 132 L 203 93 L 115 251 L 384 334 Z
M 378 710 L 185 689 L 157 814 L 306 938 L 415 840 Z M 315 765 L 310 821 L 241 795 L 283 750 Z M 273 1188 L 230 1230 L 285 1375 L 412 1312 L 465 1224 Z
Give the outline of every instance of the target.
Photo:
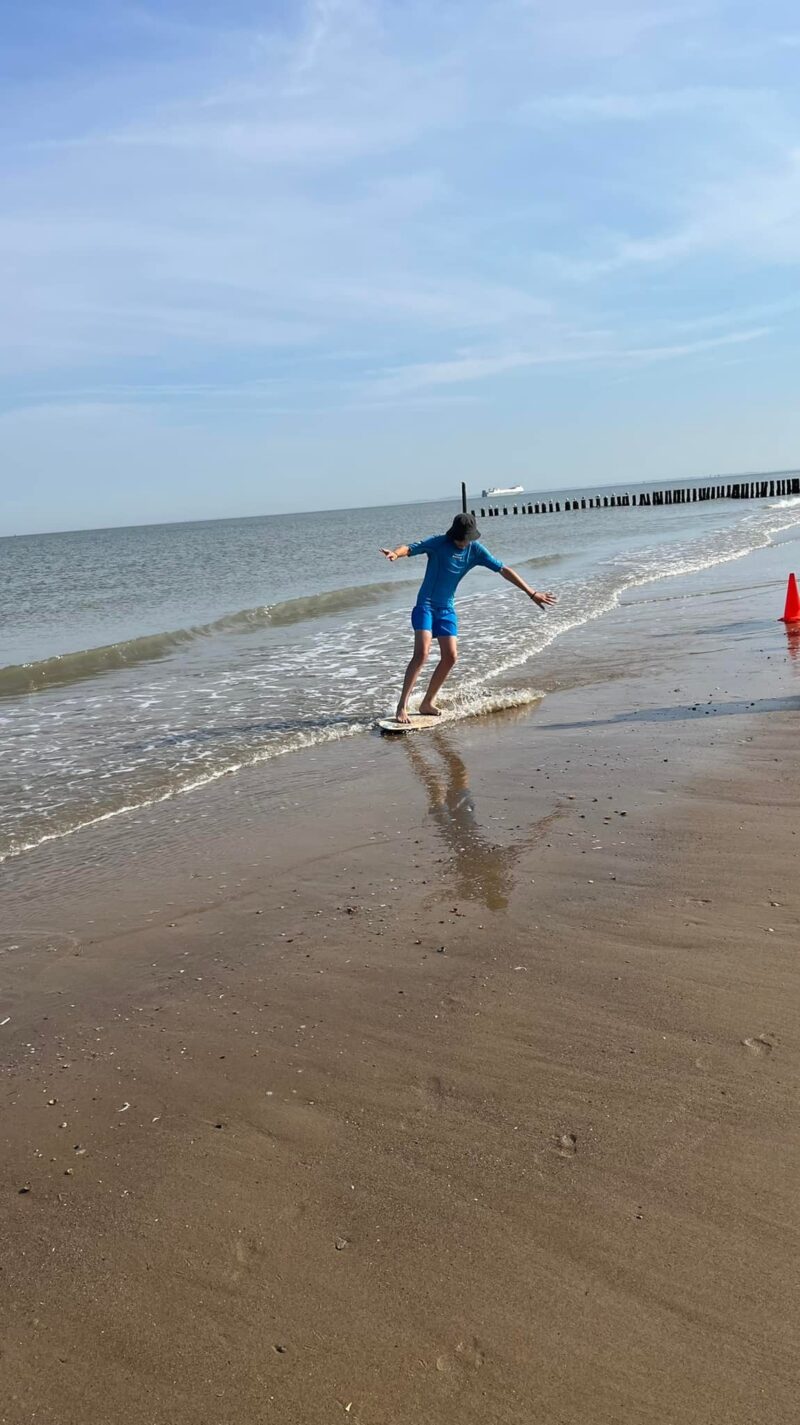
M 396 703 L 424 573 L 379 546 L 441 532 L 456 509 L 0 539 L 0 859 L 368 732 Z M 538 654 L 626 590 L 743 559 L 799 523 L 800 499 L 485 520 L 489 549 L 559 604 L 538 613 L 472 573 L 443 701 L 466 715 L 535 698 Z

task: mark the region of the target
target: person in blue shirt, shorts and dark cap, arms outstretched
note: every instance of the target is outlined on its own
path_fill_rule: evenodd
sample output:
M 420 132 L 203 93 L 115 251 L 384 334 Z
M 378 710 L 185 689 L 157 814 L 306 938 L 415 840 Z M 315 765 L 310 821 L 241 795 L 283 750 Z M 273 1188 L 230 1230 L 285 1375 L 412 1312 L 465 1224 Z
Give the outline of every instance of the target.
M 411 722 L 408 715 L 408 700 L 416 683 L 425 660 L 431 651 L 434 638 L 439 643 L 439 663 L 428 685 L 428 691 L 419 705 L 419 712 L 425 717 L 441 717 L 436 707 L 436 694 L 443 681 L 455 668 L 458 658 L 458 614 L 455 611 L 455 591 L 471 569 L 482 564 L 502 574 L 509 584 L 515 584 L 523 594 L 545 608 L 555 604 L 553 594 L 539 594 L 530 589 L 513 570 L 506 569 L 499 559 L 489 554 L 489 550 L 479 543 L 481 530 L 473 514 L 456 514 L 446 534 L 434 534 L 431 539 L 418 540 L 415 544 L 398 544 L 396 549 L 382 549 L 389 563 L 396 559 L 412 559 L 415 554 L 428 556 L 428 569 L 422 580 L 416 604 L 411 613 L 414 628 L 414 654 L 402 684 L 401 700 L 398 703 L 398 722 Z

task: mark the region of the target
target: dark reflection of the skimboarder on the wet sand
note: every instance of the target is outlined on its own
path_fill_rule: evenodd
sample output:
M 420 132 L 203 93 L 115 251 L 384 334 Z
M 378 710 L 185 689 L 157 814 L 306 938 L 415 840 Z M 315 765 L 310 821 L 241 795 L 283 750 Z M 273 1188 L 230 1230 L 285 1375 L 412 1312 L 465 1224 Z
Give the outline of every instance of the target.
M 463 760 L 443 732 L 405 740 L 408 758 L 428 792 L 431 815 L 452 855 L 455 891 L 481 899 L 489 911 L 508 905 L 513 869 L 528 842 L 498 846 L 482 834 Z

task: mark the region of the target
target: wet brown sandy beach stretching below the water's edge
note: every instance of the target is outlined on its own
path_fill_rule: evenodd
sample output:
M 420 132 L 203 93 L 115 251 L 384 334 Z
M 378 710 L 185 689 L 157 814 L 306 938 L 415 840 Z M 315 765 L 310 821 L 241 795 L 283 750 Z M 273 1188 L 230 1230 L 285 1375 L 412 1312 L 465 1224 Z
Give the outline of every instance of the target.
M 796 1419 L 800 647 L 743 567 L 535 711 L 3 868 L 3 1425 Z

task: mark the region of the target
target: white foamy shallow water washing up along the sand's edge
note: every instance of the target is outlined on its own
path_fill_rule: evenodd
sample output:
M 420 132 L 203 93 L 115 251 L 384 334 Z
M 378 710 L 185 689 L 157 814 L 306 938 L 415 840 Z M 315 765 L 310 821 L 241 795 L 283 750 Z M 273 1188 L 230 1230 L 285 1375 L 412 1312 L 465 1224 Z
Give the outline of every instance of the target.
M 726 524 L 726 510 L 710 512 L 706 532 L 689 542 L 629 549 L 600 563 L 595 556 L 593 571 L 589 566 L 583 577 L 560 581 L 560 603 L 543 616 L 501 581 L 468 591 L 462 604 L 471 657 L 448 684 L 453 715 L 535 701 L 536 691 L 518 694 L 498 681 L 562 634 L 613 610 L 626 590 L 742 560 L 769 546 L 774 534 L 800 523 L 800 497 L 736 514 L 736 523 Z M 645 527 L 652 530 L 653 523 Z M 630 540 L 629 523 L 625 537 Z M 406 641 L 398 647 L 398 638 Z M 37 735 L 30 708 L 6 704 L 0 779 L 17 829 L 0 859 L 244 767 L 364 732 L 374 714 L 394 705 L 409 644 L 408 611 L 381 610 L 364 620 L 348 617 L 335 634 L 318 627 L 302 636 L 295 630 L 280 643 L 248 643 L 227 661 L 151 665 L 147 681 L 125 674 L 96 685 L 90 700 L 74 691 L 40 694 Z M 481 673 L 469 671 L 476 665 Z M 23 787 L 30 788 L 24 805 Z M 114 788 L 116 807 L 108 805 Z M 11 825 L 10 812 L 4 819 Z

